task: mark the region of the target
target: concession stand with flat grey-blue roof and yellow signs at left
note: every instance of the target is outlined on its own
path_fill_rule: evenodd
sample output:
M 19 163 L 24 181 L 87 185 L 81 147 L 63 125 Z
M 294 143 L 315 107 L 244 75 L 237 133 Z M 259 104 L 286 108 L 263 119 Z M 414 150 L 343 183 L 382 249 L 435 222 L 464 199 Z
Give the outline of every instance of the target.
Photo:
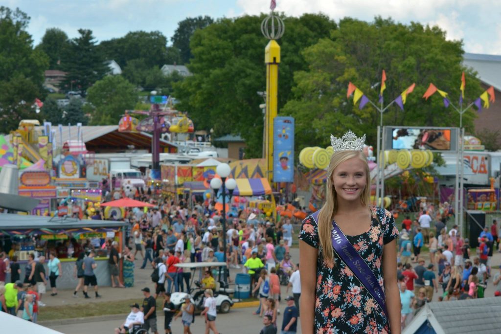
M 80 220 L 68 216 L 0 214 L 0 241 L 4 249 L 13 249 L 13 254 L 18 256 L 21 277 L 25 276 L 28 254 L 34 253 L 36 259 L 45 255 L 48 259 L 49 251 L 56 251 L 63 269 L 57 286 L 62 289 L 74 288 L 78 283 L 73 276 L 76 258 L 71 257 L 74 243 L 79 243 L 84 249 L 94 248 L 91 240 L 103 245 L 107 239 L 113 239 L 123 245 L 125 225 L 123 221 Z M 111 285 L 107 254 L 106 248 L 96 249 L 94 258 L 97 268 L 94 273 L 100 286 Z

